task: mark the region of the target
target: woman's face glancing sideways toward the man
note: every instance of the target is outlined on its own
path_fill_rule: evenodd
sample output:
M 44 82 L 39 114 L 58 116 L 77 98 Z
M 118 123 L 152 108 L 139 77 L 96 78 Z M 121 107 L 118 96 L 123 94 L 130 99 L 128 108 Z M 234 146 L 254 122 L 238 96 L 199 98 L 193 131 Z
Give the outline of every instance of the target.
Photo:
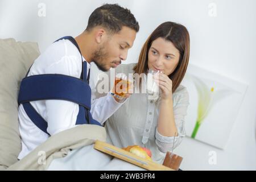
M 179 50 L 163 38 L 155 39 L 148 51 L 148 68 L 161 70 L 165 75 L 171 75 L 179 63 Z

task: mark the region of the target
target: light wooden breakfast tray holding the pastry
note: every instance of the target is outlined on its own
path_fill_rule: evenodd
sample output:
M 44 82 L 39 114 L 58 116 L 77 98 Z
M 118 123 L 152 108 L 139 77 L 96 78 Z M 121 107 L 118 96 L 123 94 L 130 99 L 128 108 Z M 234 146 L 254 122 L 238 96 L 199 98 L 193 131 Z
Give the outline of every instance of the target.
M 96 140 L 94 148 L 98 151 L 112 155 L 115 158 L 125 160 L 126 162 L 135 164 L 136 166 L 148 169 L 151 171 L 174 171 L 169 167 L 163 166 L 162 164 L 155 163 L 153 161 L 143 159 L 135 154 L 131 154 L 121 148 L 115 147 L 112 144 Z

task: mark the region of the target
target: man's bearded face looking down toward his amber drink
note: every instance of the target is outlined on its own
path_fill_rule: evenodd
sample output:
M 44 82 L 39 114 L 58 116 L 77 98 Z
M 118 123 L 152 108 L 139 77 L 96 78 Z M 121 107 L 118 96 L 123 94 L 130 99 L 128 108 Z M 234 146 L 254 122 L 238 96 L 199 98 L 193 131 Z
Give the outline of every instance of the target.
M 108 71 L 121 64 L 121 60 L 126 60 L 128 49 L 133 46 L 136 31 L 123 26 L 121 31 L 110 34 L 108 38 L 99 44 L 93 52 L 93 61 L 101 71 Z

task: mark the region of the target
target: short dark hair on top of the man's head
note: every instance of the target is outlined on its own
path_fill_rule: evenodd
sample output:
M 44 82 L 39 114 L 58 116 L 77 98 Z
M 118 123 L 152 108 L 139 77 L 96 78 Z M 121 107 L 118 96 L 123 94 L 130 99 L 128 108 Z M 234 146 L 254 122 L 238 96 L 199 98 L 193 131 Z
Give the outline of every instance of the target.
M 96 26 L 105 27 L 112 33 L 119 32 L 122 26 L 129 27 L 136 32 L 139 31 L 139 23 L 131 11 L 118 4 L 105 4 L 94 10 L 89 17 L 86 31 L 90 31 Z

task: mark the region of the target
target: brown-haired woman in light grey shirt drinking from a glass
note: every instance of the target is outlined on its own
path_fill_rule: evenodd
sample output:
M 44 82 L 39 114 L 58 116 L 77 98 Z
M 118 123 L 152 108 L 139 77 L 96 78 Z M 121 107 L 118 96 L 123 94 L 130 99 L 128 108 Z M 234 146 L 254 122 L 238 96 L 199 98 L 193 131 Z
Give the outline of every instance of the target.
M 165 153 L 173 150 L 185 136 L 184 117 L 189 97 L 180 85 L 189 60 L 189 34 L 181 24 L 160 24 L 142 47 L 138 64 L 119 65 L 116 73 L 148 73 L 160 70 L 156 82 L 160 97 L 150 100 L 148 94 L 131 94 L 125 103 L 105 122 L 107 141 L 117 147 L 138 144 L 149 148 L 152 159 L 163 163 Z

